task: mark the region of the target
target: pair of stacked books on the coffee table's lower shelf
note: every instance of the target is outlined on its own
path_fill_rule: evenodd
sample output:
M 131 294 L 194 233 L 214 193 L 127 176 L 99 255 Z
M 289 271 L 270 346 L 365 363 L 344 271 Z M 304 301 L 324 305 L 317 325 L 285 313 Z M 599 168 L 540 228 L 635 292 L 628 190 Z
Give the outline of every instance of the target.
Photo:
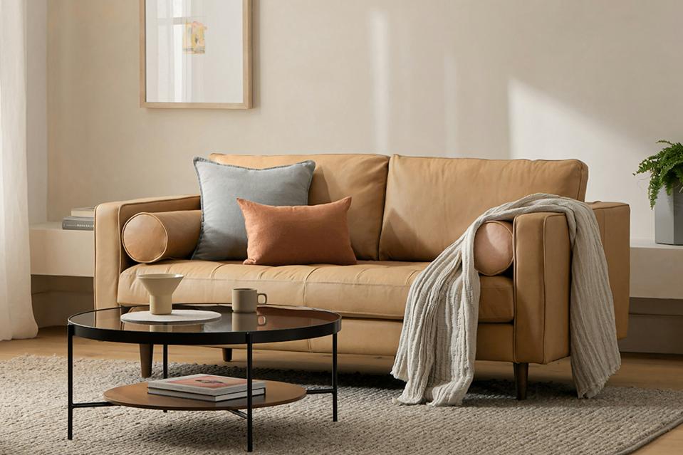
M 260 380 L 251 381 L 251 390 L 265 389 L 266 383 Z M 147 389 L 172 390 L 192 394 L 217 397 L 224 394 L 244 392 L 246 396 L 246 379 L 241 377 L 227 377 L 217 375 L 189 375 L 171 377 L 165 380 L 147 382 Z

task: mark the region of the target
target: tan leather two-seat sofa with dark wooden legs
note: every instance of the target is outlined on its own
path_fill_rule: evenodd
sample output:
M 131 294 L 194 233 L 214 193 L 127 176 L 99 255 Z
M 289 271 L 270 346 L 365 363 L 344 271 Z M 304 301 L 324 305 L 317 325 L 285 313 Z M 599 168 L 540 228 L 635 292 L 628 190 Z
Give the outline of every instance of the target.
M 535 192 L 583 201 L 588 182 L 588 168 L 575 159 L 215 154 L 211 159 L 254 168 L 313 159 L 317 165 L 310 204 L 353 197 L 349 227 L 358 264 L 268 267 L 189 259 L 135 263 L 122 249 L 125 221 L 141 211 L 199 209 L 199 196 L 111 202 L 100 204 L 95 212 L 96 308 L 146 303 L 147 293 L 135 280 L 141 273 L 182 273 L 185 278 L 174 294 L 178 302 L 226 303 L 232 288 L 254 287 L 268 293 L 268 303 L 307 305 L 343 315 L 340 353 L 394 355 L 410 283 L 476 216 Z M 629 206 L 591 205 L 608 259 L 617 335 L 623 338 L 629 297 Z M 571 258 L 565 216 L 518 216 L 513 245 L 508 271 L 481 276 L 476 358 L 514 362 L 518 397 L 523 397 L 528 362 L 545 364 L 570 355 Z M 330 352 L 331 340 L 260 347 Z

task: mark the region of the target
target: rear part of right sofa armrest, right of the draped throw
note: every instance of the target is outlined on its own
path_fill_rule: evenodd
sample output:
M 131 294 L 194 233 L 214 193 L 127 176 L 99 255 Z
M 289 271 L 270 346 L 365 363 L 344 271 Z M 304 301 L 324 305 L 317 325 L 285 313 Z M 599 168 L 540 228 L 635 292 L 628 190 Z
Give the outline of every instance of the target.
M 628 330 L 630 297 L 630 207 L 621 202 L 588 202 L 600 227 L 614 297 L 617 338 Z

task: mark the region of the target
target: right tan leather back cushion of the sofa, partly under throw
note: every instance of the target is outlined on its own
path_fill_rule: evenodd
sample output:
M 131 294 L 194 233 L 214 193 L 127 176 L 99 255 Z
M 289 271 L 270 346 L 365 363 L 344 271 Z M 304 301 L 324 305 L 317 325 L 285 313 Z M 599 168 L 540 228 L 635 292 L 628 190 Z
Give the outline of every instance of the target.
M 432 261 L 486 209 L 539 192 L 583 201 L 587 181 L 588 167 L 578 159 L 394 155 L 380 260 Z

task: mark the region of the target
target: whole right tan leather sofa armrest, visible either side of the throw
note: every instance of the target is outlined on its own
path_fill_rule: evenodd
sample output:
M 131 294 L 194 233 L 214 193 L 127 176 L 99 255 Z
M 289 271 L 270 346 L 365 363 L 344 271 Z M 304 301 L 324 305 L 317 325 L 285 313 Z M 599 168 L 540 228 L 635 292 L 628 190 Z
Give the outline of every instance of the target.
M 617 338 L 628 328 L 630 208 L 588 203 L 600 228 L 614 297 Z M 517 216 L 513 224 L 516 362 L 548 363 L 569 347 L 571 249 L 567 219 L 559 213 Z

